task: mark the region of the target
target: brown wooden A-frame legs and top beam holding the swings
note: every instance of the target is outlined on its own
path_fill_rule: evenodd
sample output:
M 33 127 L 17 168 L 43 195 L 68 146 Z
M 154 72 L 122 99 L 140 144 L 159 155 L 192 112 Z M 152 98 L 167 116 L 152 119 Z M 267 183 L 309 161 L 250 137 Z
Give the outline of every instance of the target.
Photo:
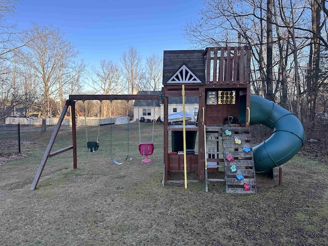
M 160 99 L 163 99 L 162 95 L 69 95 L 69 100 L 66 100 L 66 104 L 63 108 L 63 111 L 61 111 L 57 125 L 51 135 L 45 154 L 35 174 L 34 180 L 31 185 L 31 190 L 32 191 L 35 190 L 49 157 L 64 153 L 69 150 L 73 150 L 73 169 L 77 169 L 75 101 L 77 100 L 160 100 Z M 56 140 L 60 126 L 63 123 L 64 117 L 69 107 L 71 107 L 73 145 L 51 153 L 51 149 Z

